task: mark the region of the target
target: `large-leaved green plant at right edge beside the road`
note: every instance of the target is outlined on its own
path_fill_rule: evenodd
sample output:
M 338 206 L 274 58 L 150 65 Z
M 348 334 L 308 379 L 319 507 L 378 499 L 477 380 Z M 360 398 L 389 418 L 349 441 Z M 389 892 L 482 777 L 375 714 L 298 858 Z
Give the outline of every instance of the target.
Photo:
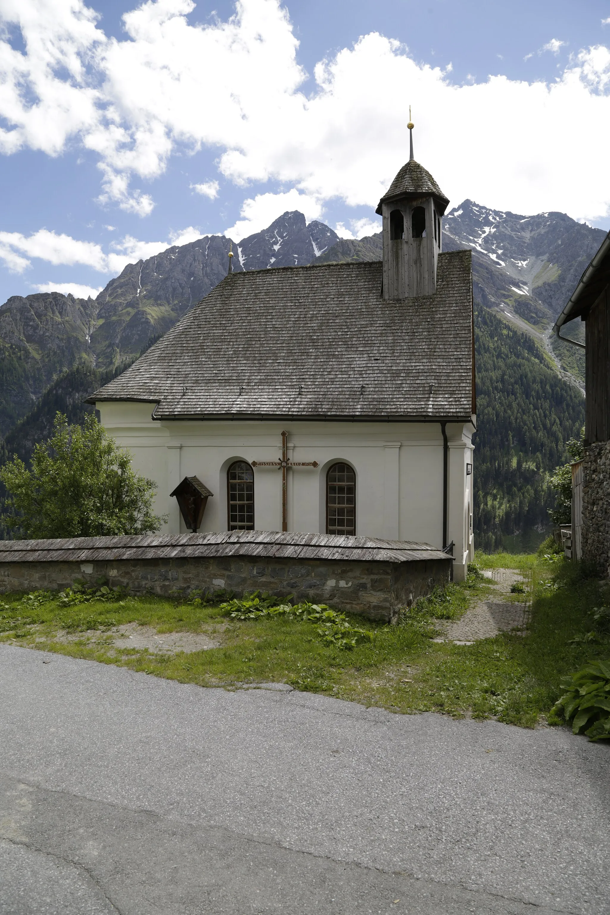
M 590 740 L 610 739 L 610 663 L 589 662 L 571 677 L 563 677 L 561 685 L 566 692 L 551 714 L 572 720 L 573 734 L 583 732 Z

